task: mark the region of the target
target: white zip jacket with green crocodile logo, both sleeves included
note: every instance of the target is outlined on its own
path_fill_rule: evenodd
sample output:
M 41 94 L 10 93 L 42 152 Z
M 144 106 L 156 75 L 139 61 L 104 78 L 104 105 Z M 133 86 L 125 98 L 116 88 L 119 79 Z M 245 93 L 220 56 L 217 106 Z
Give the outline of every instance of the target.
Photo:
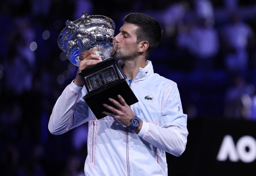
M 187 143 L 187 115 L 183 114 L 177 84 L 153 72 L 147 61 L 131 83 L 139 102 L 131 105 L 143 121 L 139 134 L 113 117 L 97 119 L 83 99 L 85 87 L 69 84 L 57 100 L 49 131 L 62 134 L 88 121 L 86 176 L 167 176 L 165 151 L 180 156 Z

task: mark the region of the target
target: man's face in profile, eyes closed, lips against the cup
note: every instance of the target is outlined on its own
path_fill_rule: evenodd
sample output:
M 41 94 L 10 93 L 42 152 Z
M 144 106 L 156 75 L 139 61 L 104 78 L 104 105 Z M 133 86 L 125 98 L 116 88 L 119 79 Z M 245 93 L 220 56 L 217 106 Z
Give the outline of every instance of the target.
M 117 60 L 132 60 L 138 55 L 137 30 L 138 26 L 125 22 L 115 36 L 116 51 L 113 58 Z

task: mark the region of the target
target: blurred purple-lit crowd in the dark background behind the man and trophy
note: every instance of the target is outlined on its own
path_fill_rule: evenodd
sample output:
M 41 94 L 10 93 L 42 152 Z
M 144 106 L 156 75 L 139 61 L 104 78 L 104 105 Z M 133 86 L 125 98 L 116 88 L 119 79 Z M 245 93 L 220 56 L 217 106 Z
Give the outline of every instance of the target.
M 53 136 L 52 108 L 75 77 L 57 45 L 66 20 L 83 12 L 116 23 L 130 12 L 163 27 L 154 71 L 177 82 L 189 119 L 256 120 L 253 0 L 10 0 L 0 21 L 0 170 L 3 175 L 83 175 L 87 126 Z

